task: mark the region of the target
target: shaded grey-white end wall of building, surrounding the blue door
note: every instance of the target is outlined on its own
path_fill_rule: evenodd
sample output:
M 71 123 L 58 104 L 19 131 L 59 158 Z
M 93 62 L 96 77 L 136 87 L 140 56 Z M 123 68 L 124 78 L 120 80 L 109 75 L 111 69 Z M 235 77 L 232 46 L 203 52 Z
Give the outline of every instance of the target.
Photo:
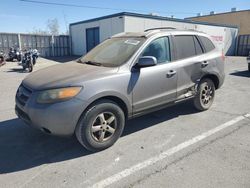
M 89 23 L 71 25 L 70 35 L 73 55 L 86 54 L 86 29 L 93 27 L 99 27 L 100 42 L 102 42 L 110 36 L 124 31 L 124 19 L 123 17 L 113 17 Z

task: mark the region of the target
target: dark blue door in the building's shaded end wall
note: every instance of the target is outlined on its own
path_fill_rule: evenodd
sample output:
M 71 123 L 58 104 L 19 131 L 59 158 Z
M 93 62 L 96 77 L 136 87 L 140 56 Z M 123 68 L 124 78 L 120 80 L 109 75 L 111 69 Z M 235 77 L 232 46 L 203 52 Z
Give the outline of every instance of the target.
M 100 43 L 100 31 L 99 27 L 93 27 L 86 29 L 86 46 L 87 52 Z

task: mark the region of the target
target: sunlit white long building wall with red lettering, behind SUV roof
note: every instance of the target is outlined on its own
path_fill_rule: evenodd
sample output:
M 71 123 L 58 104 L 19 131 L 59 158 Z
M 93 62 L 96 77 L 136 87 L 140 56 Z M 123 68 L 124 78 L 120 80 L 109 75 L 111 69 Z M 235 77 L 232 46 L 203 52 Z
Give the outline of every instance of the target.
M 226 55 L 234 55 L 235 53 L 237 28 L 125 16 L 125 32 L 139 32 L 157 27 L 174 27 L 177 29 L 201 31 L 210 35 L 218 48 Z

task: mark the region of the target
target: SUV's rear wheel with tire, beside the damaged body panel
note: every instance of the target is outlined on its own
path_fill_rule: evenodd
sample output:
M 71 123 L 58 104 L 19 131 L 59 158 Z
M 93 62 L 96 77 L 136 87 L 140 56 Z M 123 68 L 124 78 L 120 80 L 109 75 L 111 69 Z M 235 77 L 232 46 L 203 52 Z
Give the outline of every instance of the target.
M 199 111 L 208 110 L 213 104 L 215 86 L 212 80 L 203 79 L 198 86 L 198 92 L 194 98 L 194 107 Z

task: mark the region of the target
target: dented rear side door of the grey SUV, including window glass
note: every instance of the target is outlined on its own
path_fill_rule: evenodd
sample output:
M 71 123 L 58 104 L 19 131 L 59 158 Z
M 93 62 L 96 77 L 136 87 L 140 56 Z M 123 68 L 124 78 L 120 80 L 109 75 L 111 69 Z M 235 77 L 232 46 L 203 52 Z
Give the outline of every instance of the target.
M 204 50 L 195 35 L 174 36 L 178 64 L 177 98 L 189 97 L 202 76 Z

